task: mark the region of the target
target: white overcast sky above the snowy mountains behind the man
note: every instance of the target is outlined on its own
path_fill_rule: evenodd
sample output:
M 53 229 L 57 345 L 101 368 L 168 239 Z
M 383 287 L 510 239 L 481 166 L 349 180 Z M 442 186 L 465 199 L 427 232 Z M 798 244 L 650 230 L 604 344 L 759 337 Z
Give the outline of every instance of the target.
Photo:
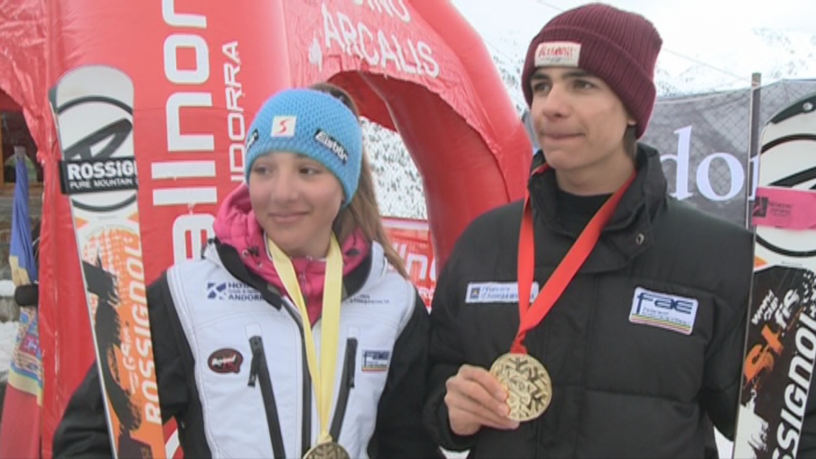
M 561 11 L 587 3 L 581 0 L 453 0 L 489 47 L 516 56 L 541 27 Z M 757 45 L 752 29 L 792 32 L 796 49 L 816 48 L 816 0 L 608 0 L 651 20 L 663 37 L 659 65 L 681 71 L 701 61 L 722 71 L 725 78 L 766 70 L 769 56 L 752 52 Z M 518 44 L 508 45 L 508 38 Z M 736 57 L 738 56 L 738 58 Z M 688 59 L 690 58 L 690 59 Z M 738 59 L 738 62 L 728 58 Z M 809 71 L 809 70 L 808 70 Z M 801 72 L 801 70 L 800 70 Z M 796 74 L 794 78 L 816 78 Z

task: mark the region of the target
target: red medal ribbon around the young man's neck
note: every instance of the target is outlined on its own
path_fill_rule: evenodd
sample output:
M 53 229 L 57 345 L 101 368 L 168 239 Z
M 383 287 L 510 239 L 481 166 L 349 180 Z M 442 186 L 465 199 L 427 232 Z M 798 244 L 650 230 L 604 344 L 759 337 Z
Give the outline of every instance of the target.
M 534 174 L 544 172 L 548 168 L 546 165 L 539 167 Z M 623 198 L 623 193 L 632 184 L 632 180 L 635 180 L 635 176 L 636 174 L 632 172 L 632 176 L 628 178 L 626 183 L 615 191 L 604 205 L 598 209 L 598 212 L 592 216 L 592 220 L 581 231 L 578 240 L 570 247 L 570 251 L 566 253 L 550 279 L 544 284 L 532 307 L 530 306 L 530 287 L 533 283 L 533 270 L 535 267 L 535 240 L 533 210 L 530 207 L 530 190 L 527 190 L 518 241 L 518 314 L 520 323 L 510 352 L 514 354 L 527 353 L 527 348 L 521 344 L 525 336 L 527 336 L 527 332 L 541 323 L 552 309 L 552 305 L 555 305 L 561 293 L 564 292 L 566 286 L 575 277 L 575 273 L 578 272 L 583 262 L 587 261 L 589 253 L 592 252 L 592 248 L 595 247 L 598 238 L 601 237 L 601 230 L 603 230 L 606 222 L 610 220 L 615 207 L 618 207 L 620 199 Z

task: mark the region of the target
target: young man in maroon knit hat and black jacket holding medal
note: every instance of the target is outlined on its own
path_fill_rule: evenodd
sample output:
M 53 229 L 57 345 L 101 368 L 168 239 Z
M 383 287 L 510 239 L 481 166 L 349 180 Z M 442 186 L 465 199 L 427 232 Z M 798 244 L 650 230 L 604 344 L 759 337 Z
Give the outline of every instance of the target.
M 444 448 L 716 457 L 709 418 L 733 436 L 752 236 L 669 198 L 636 143 L 661 44 L 601 4 L 530 43 L 529 202 L 468 227 L 433 300 L 426 417 Z

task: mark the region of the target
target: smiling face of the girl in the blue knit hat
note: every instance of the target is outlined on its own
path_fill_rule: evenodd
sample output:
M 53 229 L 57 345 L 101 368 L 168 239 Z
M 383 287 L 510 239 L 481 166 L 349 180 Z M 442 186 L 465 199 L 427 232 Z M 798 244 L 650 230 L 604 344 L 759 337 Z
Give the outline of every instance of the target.
M 326 256 L 344 195 L 322 163 L 290 152 L 264 154 L 252 163 L 249 189 L 255 218 L 286 255 Z

